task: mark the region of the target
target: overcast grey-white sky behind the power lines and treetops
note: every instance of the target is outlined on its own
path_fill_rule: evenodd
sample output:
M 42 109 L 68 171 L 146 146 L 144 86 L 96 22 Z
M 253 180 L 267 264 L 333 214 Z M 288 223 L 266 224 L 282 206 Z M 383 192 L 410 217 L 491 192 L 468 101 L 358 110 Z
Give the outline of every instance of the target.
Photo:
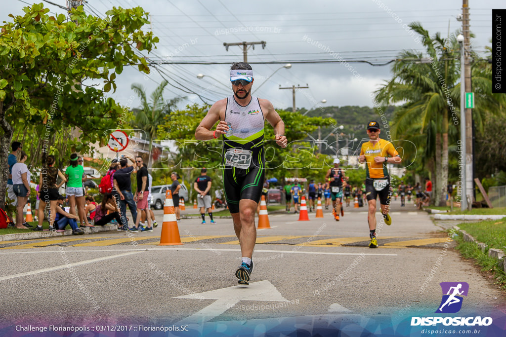
M 52 2 L 65 6 L 64 0 Z M 31 2 L 3 0 L 0 21 L 9 20 L 9 13 L 21 14 L 26 3 Z M 44 4 L 53 13 L 64 12 Z M 461 25 L 456 16 L 462 2 L 88 0 L 85 10 L 104 17 L 112 7 L 140 5 L 150 13 L 151 24 L 144 30 L 152 30 L 160 39 L 157 49 L 147 55 L 151 60 L 224 64 L 159 65 L 148 77 L 128 69 L 117 77 L 118 88 L 111 93 L 119 103 L 126 104 L 135 96 L 132 83 L 151 92 L 165 78 L 171 83 L 164 92 L 166 99 L 186 97 L 179 107 L 194 102 L 212 104 L 231 94 L 228 69 L 232 62 L 242 61 L 242 46 L 230 46 L 227 51 L 223 43 L 266 41 L 265 49 L 258 44 L 255 50 L 248 50 L 256 77 L 253 90 L 261 85 L 255 95 L 270 100 L 275 108 L 287 108 L 292 105 L 292 90 L 279 86 L 307 85 L 309 88 L 297 90 L 296 103 L 298 108 L 309 109 L 322 100 L 327 106 L 372 106 L 370 93 L 391 77 L 391 64 L 381 64 L 395 59 L 402 50 L 424 51 L 406 24 L 419 21 L 431 34 L 441 32 L 446 37 L 448 30 L 453 33 Z M 505 7 L 503 0 L 470 0 L 471 30 L 476 35 L 472 46 L 478 53 L 483 55 L 485 46 L 490 45 L 492 9 Z M 315 60 L 368 61 L 373 65 L 296 63 Z M 282 68 L 287 63 L 291 68 Z M 205 76 L 198 79 L 197 74 Z M 132 106 L 139 106 L 139 100 Z

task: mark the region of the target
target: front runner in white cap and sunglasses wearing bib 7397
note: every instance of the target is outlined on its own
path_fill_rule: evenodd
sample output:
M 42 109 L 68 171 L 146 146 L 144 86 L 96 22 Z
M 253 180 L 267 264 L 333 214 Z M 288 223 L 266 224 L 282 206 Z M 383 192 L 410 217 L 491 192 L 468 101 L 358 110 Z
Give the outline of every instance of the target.
M 241 265 L 235 272 L 239 284 L 249 284 L 251 260 L 257 229 L 255 211 L 260 202 L 265 177 L 264 127 L 274 128 L 274 141 L 285 148 L 284 123 L 268 100 L 251 96 L 255 81 L 251 66 L 236 62 L 230 68 L 234 94 L 213 104 L 195 130 L 198 140 L 223 136 L 222 162 L 225 198 L 241 247 Z M 220 121 L 214 131 L 211 130 Z

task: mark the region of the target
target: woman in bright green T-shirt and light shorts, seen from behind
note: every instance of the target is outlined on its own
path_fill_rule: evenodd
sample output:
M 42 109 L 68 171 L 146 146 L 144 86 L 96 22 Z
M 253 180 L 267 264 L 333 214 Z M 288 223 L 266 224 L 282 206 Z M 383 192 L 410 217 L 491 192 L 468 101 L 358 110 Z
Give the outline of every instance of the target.
M 67 197 L 70 203 L 70 214 L 75 215 L 75 206 L 77 205 L 77 215 L 81 226 L 85 219 L 85 194 L 82 188 L 82 181 L 85 180 L 85 168 L 82 167 L 82 159 L 78 161 L 77 154 L 70 155 L 70 165 L 65 170 L 67 177 Z

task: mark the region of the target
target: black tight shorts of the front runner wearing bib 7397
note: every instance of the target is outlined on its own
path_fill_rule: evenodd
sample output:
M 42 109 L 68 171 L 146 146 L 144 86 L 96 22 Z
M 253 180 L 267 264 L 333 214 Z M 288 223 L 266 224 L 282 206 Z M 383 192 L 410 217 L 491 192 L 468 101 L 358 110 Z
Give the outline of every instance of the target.
M 239 169 L 225 166 L 222 172 L 225 198 L 231 214 L 239 213 L 241 199 L 260 202 L 265 177 L 263 167 L 251 165 L 249 169 Z

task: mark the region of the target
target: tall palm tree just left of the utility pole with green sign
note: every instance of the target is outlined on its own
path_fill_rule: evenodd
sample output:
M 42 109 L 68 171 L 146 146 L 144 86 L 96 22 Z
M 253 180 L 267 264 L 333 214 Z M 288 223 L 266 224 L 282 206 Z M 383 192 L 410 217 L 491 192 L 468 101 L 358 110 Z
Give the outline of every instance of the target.
M 419 62 L 427 60 L 422 53 L 403 51 L 392 67 L 394 77 L 375 92 L 376 101 L 384 106 L 405 102 L 394 117 L 394 138 L 410 137 L 414 130 L 426 135 L 423 160 L 433 162 L 433 201 L 441 204 L 448 183 L 448 131 L 455 127 L 452 117 L 458 116 L 458 43 L 455 34 L 444 39 L 439 33 L 429 36 L 420 23 L 409 27 L 420 35 L 430 62 Z

